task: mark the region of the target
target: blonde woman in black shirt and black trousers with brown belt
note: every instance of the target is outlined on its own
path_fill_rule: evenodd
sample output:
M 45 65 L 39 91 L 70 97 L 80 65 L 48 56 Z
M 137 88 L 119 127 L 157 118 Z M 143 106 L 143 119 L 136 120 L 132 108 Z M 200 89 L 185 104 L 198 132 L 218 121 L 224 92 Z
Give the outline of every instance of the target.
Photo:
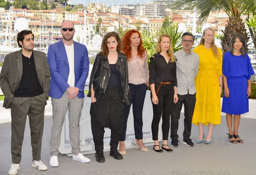
M 151 99 L 153 105 L 153 120 L 151 124 L 154 140 L 153 149 L 156 152 L 172 152 L 167 144 L 170 129 L 170 115 L 172 101 L 177 103 L 177 78 L 176 63 L 172 49 L 172 38 L 167 34 L 160 35 L 157 46 L 157 53 L 150 59 L 149 84 L 151 87 Z M 163 144 L 160 148 L 158 142 L 158 126 L 162 116 Z

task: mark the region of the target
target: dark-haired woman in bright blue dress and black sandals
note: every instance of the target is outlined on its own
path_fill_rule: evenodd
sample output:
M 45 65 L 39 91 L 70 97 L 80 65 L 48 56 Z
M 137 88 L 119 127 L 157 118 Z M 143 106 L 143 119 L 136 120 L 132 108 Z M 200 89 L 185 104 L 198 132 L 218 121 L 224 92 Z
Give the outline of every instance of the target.
M 241 114 L 249 112 L 250 77 L 254 71 L 249 56 L 244 52 L 245 46 L 241 34 L 235 34 L 230 41 L 230 51 L 224 54 L 222 63 L 224 96 L 221 111 L 226 113 L 231 143 L 244 143 L 238 135 L 238 128 Z

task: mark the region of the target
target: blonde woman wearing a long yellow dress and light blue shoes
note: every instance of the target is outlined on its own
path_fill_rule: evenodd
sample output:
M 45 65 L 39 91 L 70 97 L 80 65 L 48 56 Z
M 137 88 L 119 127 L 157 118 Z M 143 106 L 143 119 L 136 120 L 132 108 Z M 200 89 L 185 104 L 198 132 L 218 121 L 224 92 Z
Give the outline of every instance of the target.
M 196 105 L 192 123 L 198 125 L 199 137 L 197 143 L 204 140 L 204 125 L 209 130 L 204 143 L 212 141 L 213 126 L 221 123 L 221 93 L 222 93 L 222 54 L 215 46 L 214 30 L 204 29 L 199 46 L 193 52 L 199 56 L 198 75 L 195 78 Z

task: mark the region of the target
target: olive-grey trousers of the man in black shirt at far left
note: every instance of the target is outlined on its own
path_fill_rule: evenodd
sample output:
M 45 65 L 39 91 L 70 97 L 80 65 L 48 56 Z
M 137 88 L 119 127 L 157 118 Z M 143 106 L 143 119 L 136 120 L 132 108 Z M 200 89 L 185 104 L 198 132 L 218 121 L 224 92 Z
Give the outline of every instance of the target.
M 35 97 L 15 97 L 12 100 L 12 163 L 20 164 L 26 118 L 29 116 L 32 157 L 41 159 L 41 145 L 44 130 L 44 108 L 47 96 L 43 93 Z

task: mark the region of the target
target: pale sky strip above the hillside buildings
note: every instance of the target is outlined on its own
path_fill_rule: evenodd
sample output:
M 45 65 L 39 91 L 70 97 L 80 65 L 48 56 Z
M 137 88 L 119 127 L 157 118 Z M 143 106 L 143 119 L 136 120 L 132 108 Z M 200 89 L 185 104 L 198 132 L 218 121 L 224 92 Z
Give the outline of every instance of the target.
M 83 4 L 84 6 L 88 6 L 89 3 L 105 3 L 106 7 L 109 6 L 126 6 L 128 4 L 137 5 L 138 3 L 143 5 L 152 0 L 70 0 L 71 5 Z

